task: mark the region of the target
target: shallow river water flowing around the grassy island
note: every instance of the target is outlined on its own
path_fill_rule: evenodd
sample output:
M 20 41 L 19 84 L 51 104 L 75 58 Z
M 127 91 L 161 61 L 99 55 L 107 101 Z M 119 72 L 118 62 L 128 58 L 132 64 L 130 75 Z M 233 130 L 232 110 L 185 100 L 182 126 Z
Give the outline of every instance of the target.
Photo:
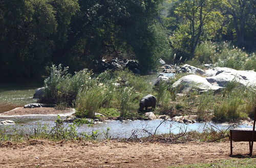
M 159 73 L 154 73 L 152 75 L 145 76 L 148 82 L 154 84 Z M 165 74 L 173 76 L 173 74 Z M 32 98 L 35 89 L 42 87 L 42 81 L 26 81 L 15 84 L 0 84 L 0 113 L 4 111 L 11 110 L 15 107 L 24 106 L 27 103 L 36 102 Z M 62 119 L 65 116 L 61 117 Z M 2 120 L 13 120 L 15 125 L 0 125 L 0 130 L 7 130 L 11 132 L 13 130 L 20 130 L 26 132 L 33 132 L 35 128 L 39 125 L 47 125 L 49 128 L 55 126 L 54 121 L 57 119 L 56 115 L 53 116 L 16 116 L 16 117 L 3 117 L 0 116 L 0 121 Z M 197 130 L 202 132 L 204 129 L 207 129 L 209 125 L 205 123 L 195 123 L 195 124 L 181 124 L 173 121 L 165 121 L 160 125 L 162 120 L 153 120 L 153 121 L 105 121 L 96 123 L 93 127 L 89 127 L 88 124 L 83 124 L 78 128 L 78 132 L 86 132 L 90 134 L 93 130 L 98 130 L 101 133 L 99 136 L 103 137 L 102 132 L 106 128 L 110 128 L 110 135 L 113 138 L 123 138 L 130 137 L 132 133 L 138 134 L 138 137 L 147 136 L 147 132 L 154 133 L 180 133 L 191 130 Z M 160 126 L 159 126 L 160 125 Z M 227 124 L 214 124 L 219 129 L 226 129 L 229 127 Z M 68 124 L 66 124 L 68 126 Z M 159 126 L 159 127 L 158 127 Z M 157 128 L 158 127 L 158 128 Z M 239 127 L 246 128 L 246 125 L 240 125 Z M 143 131 L 146 130 L 146 131 Z

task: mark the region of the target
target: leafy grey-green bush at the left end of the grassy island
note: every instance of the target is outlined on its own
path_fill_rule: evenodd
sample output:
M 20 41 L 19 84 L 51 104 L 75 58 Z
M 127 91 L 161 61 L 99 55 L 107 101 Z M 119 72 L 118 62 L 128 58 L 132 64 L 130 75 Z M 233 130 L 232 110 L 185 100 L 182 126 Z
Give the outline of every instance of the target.
M 90 75 L 87 70 L 82 70 L 72 76 L 68 67 L 62 69 L 61 65 L 52 65 L 50 76 L 45 80 L 45 97 L 39 102 L 56 103 L 59 107 L 71 105 L 82 85 L 92 85 Z

